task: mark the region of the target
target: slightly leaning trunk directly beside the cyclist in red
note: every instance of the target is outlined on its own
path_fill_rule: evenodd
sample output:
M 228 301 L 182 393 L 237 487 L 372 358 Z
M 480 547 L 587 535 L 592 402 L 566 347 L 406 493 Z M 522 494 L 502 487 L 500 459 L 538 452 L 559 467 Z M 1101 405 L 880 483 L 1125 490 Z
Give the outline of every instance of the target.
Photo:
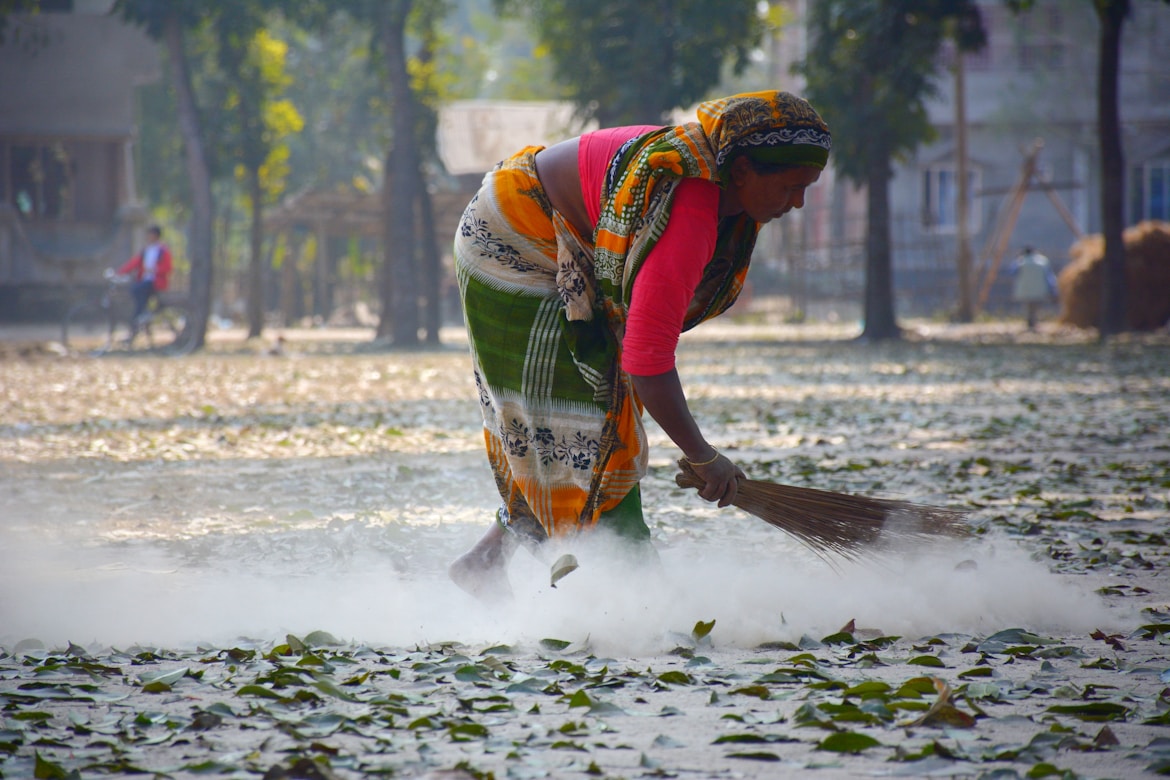
M 171 57 L 174 92 L 178 98 L 179 132 L 186 152 L 187 179 L 191 184 L 191 227 L 187 251 L 191 278 L 187 302 L 187 322 L 179 344 L 187 351 L 200 350 L 207 338 L 207 322 L 212 312 L 212 247 L 214 241 L 214 207 L 212 177 L 204 150 L 202 131 L 195 92 L 191 85 L 191 69 L 183 43 L 183 27 L 177 12 L 167 14 L 164 27 L 167 54 Z

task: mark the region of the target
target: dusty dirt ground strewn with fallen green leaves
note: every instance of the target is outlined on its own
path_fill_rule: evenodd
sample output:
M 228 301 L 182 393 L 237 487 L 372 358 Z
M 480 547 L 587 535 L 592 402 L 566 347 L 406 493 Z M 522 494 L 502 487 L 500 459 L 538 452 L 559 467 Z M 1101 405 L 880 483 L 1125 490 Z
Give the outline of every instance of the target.
M 486 608 L 463 336 L 213 333 L 174 358 L 0 331 L 0 776 L 1170 773 L 1170 338 L 741 317 L 684 337 L 752 477 L 963 509 L 828 565 L 673 483 Z M 714 624 L 713 624 L 714 622 Z

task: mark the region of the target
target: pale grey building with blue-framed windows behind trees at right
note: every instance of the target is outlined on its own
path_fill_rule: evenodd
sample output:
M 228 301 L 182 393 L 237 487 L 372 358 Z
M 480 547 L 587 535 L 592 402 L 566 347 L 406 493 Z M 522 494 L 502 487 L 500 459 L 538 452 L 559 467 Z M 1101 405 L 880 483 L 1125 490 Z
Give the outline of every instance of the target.
M 804 57 L 799 20 L 817 0 L 776 0 L 797 20 L 773 61 L 777 83 L 801 91 L 786 62 Z M 962 58 L 969 235 L 976 296 L 989 309 L 1007 304 L 1002 270 L 1025 246 L 1057 268 L 1078 235 L 1101 232 L 1096 119 L 1100 25 L 1092 4 L 1037 0 L 1012 13 L 979 0 L 987 46 Z M 1170 5 L 1134 0 L 1126 21 L 1120 109 L 1127 161 L 1127 225 L 1170 219 Z M 937 138 L 899 163 L 890 184 L 894 285 L 901 315 L 957 308 L 958 132 L 954 50 L 942 53 L 937 95 L 928 103 Z M 775 247 L 779 268 L 800 268 L 808 295 L 859 296 L 865 264 L 865 199 L 832 172 L 814 189 L 797 236 Z M 819 200 L 818 200 L 819 199 Z M 1018 202 L 1014 202 L 1018 201 Z M 787 221 L 787 218 L 785 219 Z M 771 226 L 770 226 L 771 228 Z M 997 263 L 998 258 L 998 263 Z M 791 279 L 789 279 L 791 283 Z M 985 288 L 985 289 L 984 289 Z

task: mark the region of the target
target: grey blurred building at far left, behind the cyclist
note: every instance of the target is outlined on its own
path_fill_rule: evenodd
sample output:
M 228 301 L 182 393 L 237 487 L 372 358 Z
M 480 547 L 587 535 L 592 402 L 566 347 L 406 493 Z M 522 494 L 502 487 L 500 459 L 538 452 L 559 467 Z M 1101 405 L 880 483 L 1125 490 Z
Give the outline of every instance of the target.
M 154 42 L 112 0 L 42 0 L 0 43 L 0 318 L 44 316 L 142 242 L 135 89 Z

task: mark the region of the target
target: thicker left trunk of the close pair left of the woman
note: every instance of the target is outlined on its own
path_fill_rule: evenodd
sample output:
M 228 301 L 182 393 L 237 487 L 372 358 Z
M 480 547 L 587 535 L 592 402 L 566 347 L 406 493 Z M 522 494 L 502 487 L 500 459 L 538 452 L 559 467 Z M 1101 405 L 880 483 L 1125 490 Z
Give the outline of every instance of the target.
M 392 0 L 385 5 L 380 18 L 383 50 L 390 74 L 394 137 L 387 154 L 386 181 L 383 186 L 386 208 L 383 247 L 385 271 L 380 285 L 383 312 L 377 338 L 388 337 L 399 346 L 419 343 L 414 205 L 418 201 L 420 175 L 414 140 L 414 96 L 406 70 L 406 18 L 410 12 L 411 0 Z

